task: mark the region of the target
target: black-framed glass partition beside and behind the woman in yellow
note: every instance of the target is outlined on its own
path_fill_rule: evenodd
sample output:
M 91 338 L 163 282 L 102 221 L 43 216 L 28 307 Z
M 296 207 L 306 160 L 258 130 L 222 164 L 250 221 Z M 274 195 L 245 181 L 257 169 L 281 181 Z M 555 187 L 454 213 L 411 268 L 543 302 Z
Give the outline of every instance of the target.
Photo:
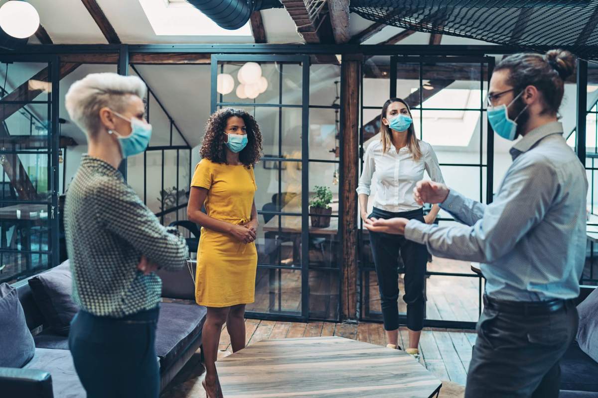
M 252 79 L 261 81 L 255 92 Z M 340 319 L 339 83 L 338 64 L 310 64 L 307 55 L 212 56 L 212 111 L 246 110 L 263 137 L 264 156 L 255 165 L 260 227 L 250 316 Z M 318 190 L 331 196 L 327 217 L 312 214 Z

